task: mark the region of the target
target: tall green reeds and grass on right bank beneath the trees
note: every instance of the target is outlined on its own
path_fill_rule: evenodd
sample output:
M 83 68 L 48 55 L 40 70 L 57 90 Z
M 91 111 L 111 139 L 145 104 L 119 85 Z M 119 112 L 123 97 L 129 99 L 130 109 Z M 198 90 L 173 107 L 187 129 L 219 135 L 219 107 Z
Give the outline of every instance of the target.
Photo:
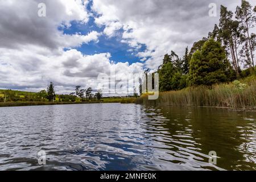
M 198 86 L 179 91 L 160 92 L 158 100 L 148 100 L 143 94 L 138 104 L 172 106 L 232 107 L 246 110 L 256 109 L 256 77 L 251 76 L 229 84 Z

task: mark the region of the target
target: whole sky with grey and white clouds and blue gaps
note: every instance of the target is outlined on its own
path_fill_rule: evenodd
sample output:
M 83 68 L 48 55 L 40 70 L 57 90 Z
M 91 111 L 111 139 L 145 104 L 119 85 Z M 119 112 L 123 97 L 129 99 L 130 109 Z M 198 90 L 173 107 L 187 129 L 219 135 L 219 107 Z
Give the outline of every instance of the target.
M 164 54 L 182 56 L 207 36 L 221 4 L 235 10 L 240 1 L 0 0 L 0 88 L 37 92 L 52 81 L 57 93 L 70 93 L 76 85 L 101 89 L 100 73 L 115 70 L 121 80 L 156 69 Z

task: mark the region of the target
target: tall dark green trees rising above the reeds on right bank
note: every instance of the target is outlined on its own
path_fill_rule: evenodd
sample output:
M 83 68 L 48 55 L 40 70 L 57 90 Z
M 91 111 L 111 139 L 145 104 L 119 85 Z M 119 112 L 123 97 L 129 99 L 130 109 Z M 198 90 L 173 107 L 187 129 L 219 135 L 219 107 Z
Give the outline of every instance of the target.
M 227 7 L 220 7 L 219 24 L 215 24 L 208 38 L 185 48 L 183 57 L 174 51 L 164 55 L 159 66 L 159 91 L 180 90 L 187 86 L 213 85 L 229 82 L 255 74 L 254 51 L 256 35 L 250 34 L 256 24 L 256 6 L 242 0 L 233 13 Z M 242 70 L 241 67 L 246 69 Z M 139 79 L 139 91 L 142 94 L 142 82 L 147 80 L 148 70 Z M 154 74 L 153 80 L 154 83 Z

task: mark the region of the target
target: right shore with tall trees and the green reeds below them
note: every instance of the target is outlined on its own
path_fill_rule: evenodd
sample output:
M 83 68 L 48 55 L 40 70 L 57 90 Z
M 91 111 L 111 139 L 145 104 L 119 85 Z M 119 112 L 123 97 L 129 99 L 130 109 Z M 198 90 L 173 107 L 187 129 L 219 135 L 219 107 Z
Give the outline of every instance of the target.
M 255 26 L 256 7 L 248 1 L 234 12 L 221 5 L 219 24 L 208 38 L 193 43 L 190 51 L 185 48 L 183 57 L 174 51 L 164 55 L 155 72 L 157 89 L 154 73 L 144 72 L 136 103 L 256 110 Z M 158 100 L 148 100 L 152 90 L 159 90 Z

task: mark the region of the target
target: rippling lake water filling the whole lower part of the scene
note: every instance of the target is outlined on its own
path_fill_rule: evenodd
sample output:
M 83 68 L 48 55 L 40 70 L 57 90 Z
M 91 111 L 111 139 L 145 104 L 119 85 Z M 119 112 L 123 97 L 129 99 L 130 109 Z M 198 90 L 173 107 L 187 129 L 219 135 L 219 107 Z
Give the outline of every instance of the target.
M 39 151 L 46 165 L 38 164 Z M 14 169 L 255 170 L 256 113 L 135 104 L 3 107 L 0 170 Z

